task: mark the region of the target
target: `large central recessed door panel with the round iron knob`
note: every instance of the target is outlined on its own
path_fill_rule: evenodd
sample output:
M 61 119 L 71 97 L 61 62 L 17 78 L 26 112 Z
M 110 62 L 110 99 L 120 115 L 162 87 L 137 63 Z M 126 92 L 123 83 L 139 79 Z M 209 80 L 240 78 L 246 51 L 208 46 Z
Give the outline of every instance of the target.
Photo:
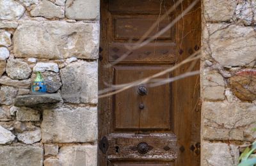
M 127 84 L 162 72 L 164 66 L 115 66 L 115 84 Z M 167 73 L 157 79 L 168 79 Z M 141 84 L 115 95 L 115 129 L 170 129 L 170 84 Z M 140 91 L 144 91 L 141 94 Z M 157 96 L 157 98 L 156 98 Z

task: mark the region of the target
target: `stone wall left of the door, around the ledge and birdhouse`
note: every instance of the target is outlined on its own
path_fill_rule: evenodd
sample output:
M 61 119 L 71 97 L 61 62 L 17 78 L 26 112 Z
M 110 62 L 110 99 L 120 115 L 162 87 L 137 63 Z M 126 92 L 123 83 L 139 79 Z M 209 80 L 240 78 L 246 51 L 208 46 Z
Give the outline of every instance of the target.
M 0 165 L 97 165 L 98 49 L 99 0 L 0 0 Z M 37 71 L 61 102 L 16 107 Z

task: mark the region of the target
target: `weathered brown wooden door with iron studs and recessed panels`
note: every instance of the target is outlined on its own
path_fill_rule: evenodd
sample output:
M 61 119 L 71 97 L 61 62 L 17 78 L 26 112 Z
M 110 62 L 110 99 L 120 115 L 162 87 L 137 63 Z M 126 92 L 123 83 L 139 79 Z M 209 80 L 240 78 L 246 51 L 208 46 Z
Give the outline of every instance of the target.
M 161 72 L 200 47 L 200 4 L 168 31 L 129 51 L 148 29 L 148 38 L 168 26 L 191 0 L 168 14 L 176 0 L 102 0 L 100 10 L 99 89 Z M 129 53 L 122 61 L 116 61 Z M 183 65 L 158 79 L 188 70 Z M 199 68 L 199 63 L 193 70 Z M 151 87 L 132 87 L 99 100 L 98 165 L 200 165 L 199 76 Z

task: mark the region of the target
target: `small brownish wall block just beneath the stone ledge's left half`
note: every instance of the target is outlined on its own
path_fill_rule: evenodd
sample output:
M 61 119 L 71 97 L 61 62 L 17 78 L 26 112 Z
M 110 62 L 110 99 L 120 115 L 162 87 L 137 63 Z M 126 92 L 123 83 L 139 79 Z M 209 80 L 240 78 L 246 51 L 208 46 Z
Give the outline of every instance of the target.
M 17 107 L 17 121 L 40 121 L 40 111 L 28 107 Z

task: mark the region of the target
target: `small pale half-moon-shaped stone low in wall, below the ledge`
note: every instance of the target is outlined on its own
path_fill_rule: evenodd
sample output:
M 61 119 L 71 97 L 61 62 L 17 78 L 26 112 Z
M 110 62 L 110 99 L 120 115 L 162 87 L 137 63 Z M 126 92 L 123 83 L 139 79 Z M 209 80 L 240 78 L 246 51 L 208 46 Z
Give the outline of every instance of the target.
M 41 128 L 36 127 L 33 131 L 26 131 L 17 133 L 17 139 L 25 144 L 34 144 L 39 142 L 42 138 Z

